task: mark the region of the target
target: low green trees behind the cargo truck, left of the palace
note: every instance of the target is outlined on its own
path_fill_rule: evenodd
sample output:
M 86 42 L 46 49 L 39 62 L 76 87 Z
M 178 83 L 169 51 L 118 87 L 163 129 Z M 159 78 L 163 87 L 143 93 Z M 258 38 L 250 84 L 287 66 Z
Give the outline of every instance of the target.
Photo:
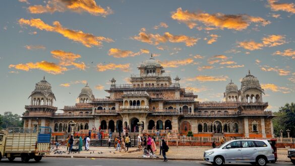
M 22 127 L 22 121 L 18 114 L 12 114 L 12 112 L 5 112 L 2 115 L 3 123 L 0 125 L 2 128 L 7 127 Z

